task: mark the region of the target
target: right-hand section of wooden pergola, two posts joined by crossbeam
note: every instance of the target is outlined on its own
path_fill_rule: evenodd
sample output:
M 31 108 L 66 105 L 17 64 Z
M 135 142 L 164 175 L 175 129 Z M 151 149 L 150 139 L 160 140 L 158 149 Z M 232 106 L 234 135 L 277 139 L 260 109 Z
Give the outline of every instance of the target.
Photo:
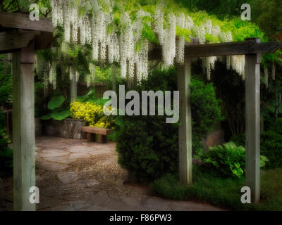
M 192 120 L 190 105 L 191 58 L 208 56 L 245 55 L 245 120 L 246 120 L 246 186 L 251 189 L 252 203 L 260 198 L 260 63 L 263 53 L 274 53 L 281 42 L 261 43 L 258 38 L 222 44 L 199 44 L 197 39 L 185 45 L 185 63 L 177 65 L 180 127 L 179 174 L 180 182 L 192 184 Z M 161 48 L 149 53 L 149 59 L 161 58 Z

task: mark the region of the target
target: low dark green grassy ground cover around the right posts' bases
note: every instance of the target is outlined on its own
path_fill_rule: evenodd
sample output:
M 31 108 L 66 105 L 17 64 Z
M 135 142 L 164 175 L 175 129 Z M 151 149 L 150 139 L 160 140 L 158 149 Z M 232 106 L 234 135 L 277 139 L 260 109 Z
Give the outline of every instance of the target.
M 198 166 L 192 172 L 194 183 L 190 186 L 183 186 L 177 176 L 166 174 L 152 183 L 151 190 L 164 198 L 194 200 L 228 210 L 282 210 L 282 169 L 262 170 L 261 202 L 245 205 L 240 201 L 244 178 L 223 179 Z

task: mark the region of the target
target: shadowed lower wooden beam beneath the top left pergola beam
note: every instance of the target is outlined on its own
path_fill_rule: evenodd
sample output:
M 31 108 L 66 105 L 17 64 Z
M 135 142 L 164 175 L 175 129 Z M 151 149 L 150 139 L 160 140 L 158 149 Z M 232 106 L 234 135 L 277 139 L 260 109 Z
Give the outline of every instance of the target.
M 9 53 L 27 48 L 39 31 L 0 35 L 0 53 Z

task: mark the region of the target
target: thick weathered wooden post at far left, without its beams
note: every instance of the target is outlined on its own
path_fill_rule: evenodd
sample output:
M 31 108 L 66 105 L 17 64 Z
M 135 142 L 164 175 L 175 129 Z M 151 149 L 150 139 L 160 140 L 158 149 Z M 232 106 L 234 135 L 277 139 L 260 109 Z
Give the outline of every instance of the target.
M 35 186 L 34 44 L 13 53 L 13 207 L 34 211 Z

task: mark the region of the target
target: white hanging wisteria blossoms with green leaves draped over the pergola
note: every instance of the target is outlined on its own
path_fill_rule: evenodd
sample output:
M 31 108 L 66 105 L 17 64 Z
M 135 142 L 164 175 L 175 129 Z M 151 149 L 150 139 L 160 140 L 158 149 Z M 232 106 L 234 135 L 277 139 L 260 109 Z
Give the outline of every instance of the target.
M 162 3 L 154 8 L 140 6 L 134 11 L 124 6 L 123 1 L 114 0 L 51 0 L 51 6 L 53 26 L 61 26 L 64 30 L 62 53 L 66 53 L 68 43 L 90 44 L 92 60 L 120 63 L 121 76 L 133 80 L 136 75 L 137 82 L 147 78 L 148 51 L 152 39 L 157 39 L 155 44 L 162 46 L 162 58 L 166 67 L 173 65 L 175 60 L 176 63 L 184 63 L 186 37 L 189 34 L 197 37 L 200 44 L 233 41 L 231 32 L 223 32 L 212 20 L 201 23 L 193 21 L 187 13 L 169 11 Z M 84 13 L 80 12 L 81 7 L 84 7 Z M 116 8 L 121 10 L 116 11 Z M 151 31 L 153 38 L 146 36 Z M 216 59 L 218 58 L 204 59 L 203 69 L 207 72 L 208 79 Z M 244 79 L 243 56 L 226 56 L 226 67 L 232 67 Z M 90 71 L 92 70 L 94 69 L 90 66 Z M 78 72 L 72 72 L 71 69 L 70 78 L 73 76 L 79 78 Z M 88 85 L 93 77 L 92 72 L 87 75 Z M 54 85 L 54 79 L 50 78 L 51 81 Z

